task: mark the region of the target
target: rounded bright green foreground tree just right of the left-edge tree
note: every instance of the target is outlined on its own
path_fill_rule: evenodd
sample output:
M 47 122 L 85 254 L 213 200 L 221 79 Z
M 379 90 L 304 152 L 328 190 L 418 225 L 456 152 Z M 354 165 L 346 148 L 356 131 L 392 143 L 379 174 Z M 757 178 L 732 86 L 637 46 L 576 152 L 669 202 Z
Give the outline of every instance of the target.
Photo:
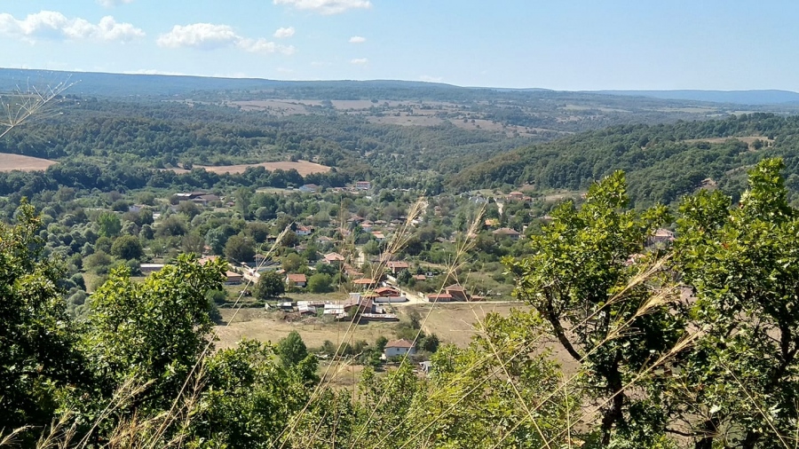
M 222 288 L 223 272 L 221 261 L 200 265 L 188 256 L 144 282 L 131 280 L 126 268 L 113 270 L 91 297 L 82 335 L 92 382 L 72 392 L 69 406 L 94 414 L 133 381 L 140 387 L 125 393 L 131 398 L 119 414 L 169 409 L 210 345 L 213 323 L 205 294 Z

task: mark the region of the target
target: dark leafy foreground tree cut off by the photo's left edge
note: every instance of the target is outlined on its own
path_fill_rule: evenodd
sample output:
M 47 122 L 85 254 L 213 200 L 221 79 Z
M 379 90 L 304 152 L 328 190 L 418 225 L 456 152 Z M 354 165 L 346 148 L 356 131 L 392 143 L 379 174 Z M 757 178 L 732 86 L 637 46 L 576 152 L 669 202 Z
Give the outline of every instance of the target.
M 62 276 L 42 257 L 41 227 L 23 202 L 17 225 L 0 224 L 0 429 L 46 426 L 56 394 L 80 382 L 76 329 L 56 285 Z

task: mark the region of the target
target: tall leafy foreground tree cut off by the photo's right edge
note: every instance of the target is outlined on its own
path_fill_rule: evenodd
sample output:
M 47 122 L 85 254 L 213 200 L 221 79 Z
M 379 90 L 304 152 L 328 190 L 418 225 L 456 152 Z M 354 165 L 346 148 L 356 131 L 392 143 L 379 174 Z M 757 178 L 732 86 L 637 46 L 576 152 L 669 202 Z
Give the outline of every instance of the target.
M 704 190 L 680 207 L 676 267 L 704 332 L 676 384 L 701 385 L 683 410 L 699 421 L 698 449 L 731 430 L 742 448 L 779 447 L 796 429 L 799 210 L 788 206 L 783 168 L 772 159 L 750 170 L 738 207 Z

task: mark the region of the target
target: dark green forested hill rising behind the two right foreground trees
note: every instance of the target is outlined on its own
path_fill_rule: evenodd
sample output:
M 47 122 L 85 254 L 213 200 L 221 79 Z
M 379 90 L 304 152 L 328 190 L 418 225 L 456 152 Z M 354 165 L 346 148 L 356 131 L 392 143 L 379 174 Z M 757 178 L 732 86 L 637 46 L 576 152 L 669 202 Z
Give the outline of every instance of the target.
M 671 202 L 701 186 L 743 191 L 745 170 L 785 158 L 787 185 L 799 192 L 799 117 L 742 114 L 709 122 L 613 126 L 498 155 L 453 178 L 458 190 L 531 183 L 580 190 L 613 170 L 627 172 L 639 204 Z

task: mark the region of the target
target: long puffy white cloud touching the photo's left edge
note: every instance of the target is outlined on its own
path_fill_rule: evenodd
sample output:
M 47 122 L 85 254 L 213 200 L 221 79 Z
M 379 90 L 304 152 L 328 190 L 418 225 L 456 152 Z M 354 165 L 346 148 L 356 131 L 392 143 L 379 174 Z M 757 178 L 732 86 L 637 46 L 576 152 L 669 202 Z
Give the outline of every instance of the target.
M 145 32 L 130 23 L 118 23 L 106 16 L 97 24 L 81 18 L 67 18 L 55 11 L 28 14 L 23 20 L 8 13 L 0 13 L 0 34 L 19 36 L 30 42 L 36 39 L 95 39 L 99 41 L 127 42 L 144 37 Z

